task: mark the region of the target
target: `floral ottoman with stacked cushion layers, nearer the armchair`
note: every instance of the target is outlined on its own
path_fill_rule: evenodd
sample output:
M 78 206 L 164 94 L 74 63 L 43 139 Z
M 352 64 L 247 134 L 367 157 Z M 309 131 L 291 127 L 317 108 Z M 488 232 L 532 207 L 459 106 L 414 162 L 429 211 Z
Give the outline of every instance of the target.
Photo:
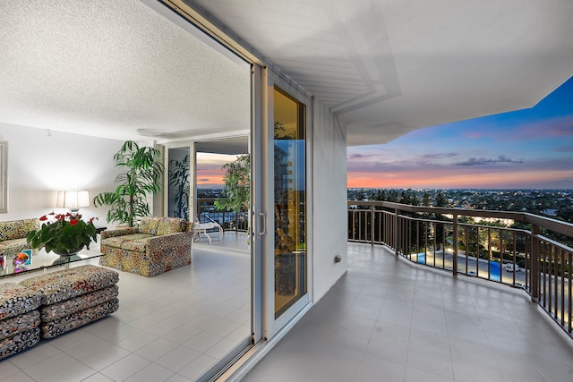
M 31 277 L 20 284 L 40 293 L 40 335 L 52 338 L 118 310 L 118 281 L 115 270 L 82 266 Z

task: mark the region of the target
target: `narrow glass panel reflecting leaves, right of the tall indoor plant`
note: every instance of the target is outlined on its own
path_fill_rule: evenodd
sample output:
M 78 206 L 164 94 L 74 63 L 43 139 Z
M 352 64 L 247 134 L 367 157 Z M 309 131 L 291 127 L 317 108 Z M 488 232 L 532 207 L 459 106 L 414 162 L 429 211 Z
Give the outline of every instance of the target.
M 169 149 L 168 216 L 189 220 L 189 148 Z

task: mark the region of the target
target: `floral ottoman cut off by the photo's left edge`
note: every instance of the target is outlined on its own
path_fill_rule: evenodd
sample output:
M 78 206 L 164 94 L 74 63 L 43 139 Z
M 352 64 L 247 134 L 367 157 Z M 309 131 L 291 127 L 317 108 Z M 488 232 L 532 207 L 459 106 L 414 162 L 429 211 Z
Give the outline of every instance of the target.
M 0 360 L 38 344 L 40 301 L 25 286 L 0 284 Z

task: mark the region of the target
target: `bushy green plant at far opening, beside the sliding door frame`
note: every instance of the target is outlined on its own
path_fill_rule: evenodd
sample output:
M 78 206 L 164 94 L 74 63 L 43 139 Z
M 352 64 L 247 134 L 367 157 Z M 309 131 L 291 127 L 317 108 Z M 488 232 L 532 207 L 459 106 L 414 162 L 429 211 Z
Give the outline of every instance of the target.
M 221 167 L 226 171 L 223 181 L 225 198 L 215 200 L 218 210 L 244 211 L 251 199 L 251 157 L 248 154 L 236 157 L 235 162 Z

